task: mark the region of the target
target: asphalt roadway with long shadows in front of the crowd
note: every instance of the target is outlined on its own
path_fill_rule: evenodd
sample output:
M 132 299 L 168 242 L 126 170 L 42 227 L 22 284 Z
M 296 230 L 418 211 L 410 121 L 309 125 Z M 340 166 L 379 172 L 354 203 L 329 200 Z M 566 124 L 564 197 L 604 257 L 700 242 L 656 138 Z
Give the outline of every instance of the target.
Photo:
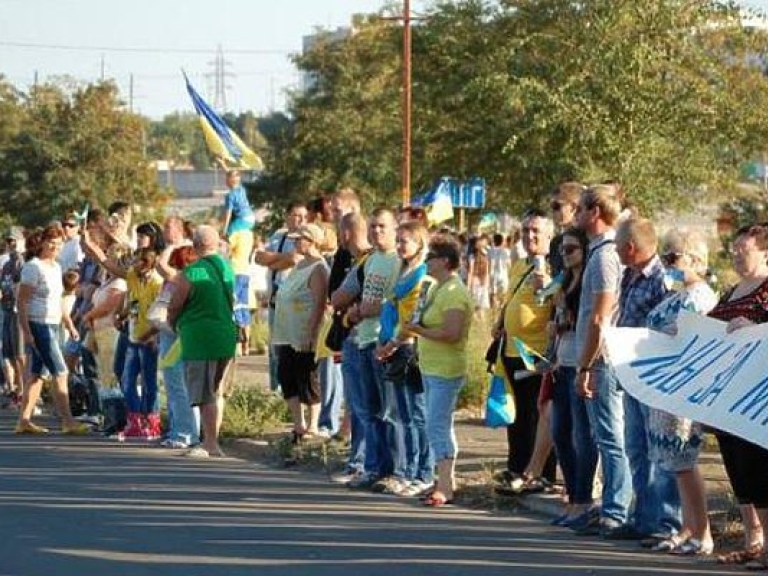
M 0 414 L 0 576 L 733 574 L 536 516 L 349 492 L 318 474 L 98 437 L 17 437 Z

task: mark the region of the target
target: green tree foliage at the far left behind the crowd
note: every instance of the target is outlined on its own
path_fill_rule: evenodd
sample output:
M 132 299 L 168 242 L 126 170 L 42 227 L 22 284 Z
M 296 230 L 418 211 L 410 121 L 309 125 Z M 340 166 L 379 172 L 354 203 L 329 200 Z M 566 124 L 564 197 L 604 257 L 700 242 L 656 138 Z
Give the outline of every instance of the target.
M 144 123 L 111 82 L 67 79 L 21 94 L 0 81 L 0 202 L 15 222 L 39 225 L 85 202 L 159 206 L 143 155 Z

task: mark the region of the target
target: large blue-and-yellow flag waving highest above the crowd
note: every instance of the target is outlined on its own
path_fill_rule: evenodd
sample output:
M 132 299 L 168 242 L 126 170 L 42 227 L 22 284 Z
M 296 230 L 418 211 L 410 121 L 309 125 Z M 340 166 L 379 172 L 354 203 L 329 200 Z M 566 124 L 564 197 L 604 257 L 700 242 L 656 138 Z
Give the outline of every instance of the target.
M 200 126 L 205 136 L 205 143 L 211 154 L 224 159 L 227 164 L 233 167 L 261 170 L 264 167 L 261 158 L 248 148 L 237 134 L 226 125 L 224 120 L 213 111 L 213 108 L 202 99 L 192 84 L 189 83 L 186 74 L 184 74 L 184 80 L 187 82 L 187 92 L 189 92 L 192 103 L 195 105 L 195 111 L 200 118 Z

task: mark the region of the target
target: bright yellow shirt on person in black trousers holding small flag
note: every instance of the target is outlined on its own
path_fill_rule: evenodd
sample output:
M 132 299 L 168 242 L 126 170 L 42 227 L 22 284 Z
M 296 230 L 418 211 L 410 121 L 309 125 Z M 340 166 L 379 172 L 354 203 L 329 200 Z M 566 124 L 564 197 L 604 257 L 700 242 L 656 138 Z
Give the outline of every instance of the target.
M 552 299 L 548 298 L 542 305 L 536 302 L 533 274 L 528 272 L 530 269 L 531 264 L 523 259 L 515 262 L 509 270 L 510 292 L 504 308 L 504 330 L 507 333 L 504 355 L 508 357 L 520 356 L 512 341 L 513 336 L 539 354 L 547 351 L 547 323 L 552 316 Z M 513 293 L 515 288 L 517 290 Z

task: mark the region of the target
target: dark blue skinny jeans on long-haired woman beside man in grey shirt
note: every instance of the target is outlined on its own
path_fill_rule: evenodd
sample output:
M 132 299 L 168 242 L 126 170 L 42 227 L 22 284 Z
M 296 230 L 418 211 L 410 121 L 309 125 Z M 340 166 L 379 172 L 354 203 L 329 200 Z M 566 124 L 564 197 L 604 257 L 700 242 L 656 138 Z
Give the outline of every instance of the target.
M 576 368 L 561 366 L 552 390 L 552 440 L 563 471 L 568 501 L 592 504 L 597 470 L 597 446 L 589 427 L 583 398 L 576 393 Z

